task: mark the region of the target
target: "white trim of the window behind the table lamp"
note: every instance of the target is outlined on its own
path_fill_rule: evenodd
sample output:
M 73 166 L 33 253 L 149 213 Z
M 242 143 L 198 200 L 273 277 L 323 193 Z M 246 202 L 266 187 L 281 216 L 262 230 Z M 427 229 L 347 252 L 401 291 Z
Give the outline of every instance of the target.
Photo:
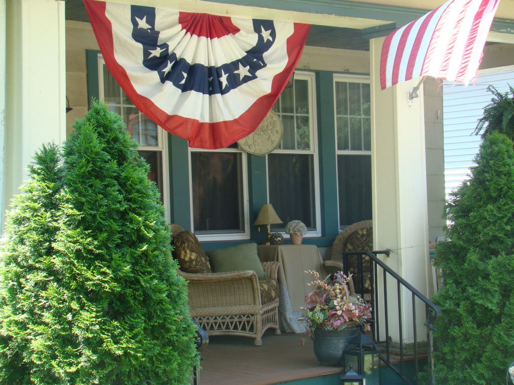
M 310 150 L 284 150 L 277 148 L 271 153 L 290 153 L 290 154 L 309 154 L 314 157 L 314 208 L 316 217 L 314 227 L 304 236 L 305 238 L 321 237 L 321 202 L 320 202 L 320 170 L 319 170 L 319 149 L 318 149 L 318 104 L 316 102 L 316 73 L 307 71 L 296 71 L 295 79 L 307 80 L 308 93 L 311 95 L 309 101 L 309 125 L 313 129 L 310 131 Z M 268 175 L 268 156 L 266 155 L 266 192 L 267 203 L 269 203 L 269 175 Z M 284 223 L 284 226 L 287 223 Z M 289 238 L 289 234 L 281 232 L 284 238 Z

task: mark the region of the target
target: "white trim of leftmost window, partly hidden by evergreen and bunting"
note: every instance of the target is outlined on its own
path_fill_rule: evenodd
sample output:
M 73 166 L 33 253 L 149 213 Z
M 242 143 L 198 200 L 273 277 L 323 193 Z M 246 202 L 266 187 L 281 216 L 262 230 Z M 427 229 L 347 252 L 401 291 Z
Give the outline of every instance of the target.
M 104 89 L 103 89 L 103 66 L 105 61 L 101 53 L 98 54 L 97 68 L 98 68 L 98 93 L 101 101 L 104 100 Z M 162 152 L 162 201 L 164 202 L 164 210 L 166 212 L 166 221 L 171 222 L 171 210 L 170 210 L 170 172 L 169 172 L 169 158 L 168 158 L 168 132 L 164 131 L 160 126 L 157 126 L 157 136 L 159 147 L 152 146 L 139 146 L 138 150 L 141 151 L 161 151 Z

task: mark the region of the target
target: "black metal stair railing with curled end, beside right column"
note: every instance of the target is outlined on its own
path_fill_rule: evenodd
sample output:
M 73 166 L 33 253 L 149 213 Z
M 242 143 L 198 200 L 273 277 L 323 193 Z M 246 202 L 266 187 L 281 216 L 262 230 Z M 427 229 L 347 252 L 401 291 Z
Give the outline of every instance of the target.
M 421 294 L 414 286 L 400 277 L 387 264 L 378 259 L 377 255 L 390 255 L 390 251 L 358 251 L 344 252 L 343 265 L 345 272 L 353 271 L 355 291 L 366 301 L 372 304 L 372 330 L 373 341 L 380 347 L 380 360 L 398 375 L 408 385 L 419 385 L 419 364 L 426 359 L 429 365 L 429 384 L 434 385 L 433 376 L 433 322 L 441 314 L 439 307 Z M 381 285 L 382 290 L 379 290 Z M 395 294 L 388 294 L 391 291 Z M 403 304 L 402 299 L 408 302 Z M 396 306 L 395 306 L 396 302 Z M 403 306 L 402 306 L 403 304 Z M 417 319 L 420 310 L 418 305 L 425 306 L 425 326 L 427 328 L 426 348 L 420 348 L 417 336 Z M 396 309 L 395 309 L 396 307 Z M 404 318 L 406 312 L 411 311 L 411 317 Z M 390 313 L 397 312 L 397 325 L 391 324 Z M 404 324 L 404 320 L 410 321 Z M 392 333 L 397 333 L 393 343 Z M 406 344 L 404 336 L 413 341 L 413 351 L 406 357 Z M 406 358 L 414 361 L 414 377 L 408 376 L 405 370 Z

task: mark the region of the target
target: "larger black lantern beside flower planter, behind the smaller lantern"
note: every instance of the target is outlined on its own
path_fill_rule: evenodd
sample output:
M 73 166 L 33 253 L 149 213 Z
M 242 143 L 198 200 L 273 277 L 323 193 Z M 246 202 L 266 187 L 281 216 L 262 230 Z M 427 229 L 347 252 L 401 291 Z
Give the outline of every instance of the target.
M 344 361 L 345 364 L 357 361 L 357 372 L 371 383 L 379 383 L 379 379 L 375 378 L 380 375 L 379 353 L 380 350 L 375 342 L 365 334 L 359 333 L 344 349 Z

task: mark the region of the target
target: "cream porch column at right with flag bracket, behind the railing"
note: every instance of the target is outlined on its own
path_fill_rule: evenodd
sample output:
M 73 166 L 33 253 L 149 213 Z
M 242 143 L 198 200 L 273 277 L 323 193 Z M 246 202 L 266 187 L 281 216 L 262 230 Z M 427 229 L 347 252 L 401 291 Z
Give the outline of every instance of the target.
M 423 89 L 411 106 L 407 103 L 407 94 L 419 79 L 383 91 L 380 89 L 383 40 L 370 41 L 374 247 L 391 249 L 391 256 L 384 256 L 384 262 L 427 296 L 429 257 Z M 392 283 L 391 280 L 388 285 L 389 329 L 393 340 L 398 341 L 397 287 Z M 379 288 L 381 285 L 379 282 Z M 403 342 L 412 342 L 410 293 L 405 292 L 401 301 Z M 418 340 L 426 340 L 425 307 L 416 303 L 416 308 Z

